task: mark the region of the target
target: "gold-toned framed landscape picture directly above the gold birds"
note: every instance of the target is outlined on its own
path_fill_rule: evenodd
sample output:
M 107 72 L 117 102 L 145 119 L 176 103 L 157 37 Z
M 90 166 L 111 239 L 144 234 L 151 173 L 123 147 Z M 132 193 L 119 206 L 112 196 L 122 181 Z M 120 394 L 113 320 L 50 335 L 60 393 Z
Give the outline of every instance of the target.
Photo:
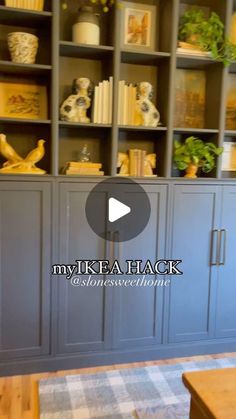
M 0 116 L 21 119 L 47 119 L 46 86 L 0 82 Z

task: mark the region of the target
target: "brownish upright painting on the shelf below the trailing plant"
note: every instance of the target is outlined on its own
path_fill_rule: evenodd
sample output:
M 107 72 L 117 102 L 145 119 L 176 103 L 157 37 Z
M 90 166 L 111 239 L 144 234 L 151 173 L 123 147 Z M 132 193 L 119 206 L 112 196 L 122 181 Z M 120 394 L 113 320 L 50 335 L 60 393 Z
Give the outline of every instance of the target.
M 176 70 L 175 128 L 205 127 L 206 73 L 201 70 Z

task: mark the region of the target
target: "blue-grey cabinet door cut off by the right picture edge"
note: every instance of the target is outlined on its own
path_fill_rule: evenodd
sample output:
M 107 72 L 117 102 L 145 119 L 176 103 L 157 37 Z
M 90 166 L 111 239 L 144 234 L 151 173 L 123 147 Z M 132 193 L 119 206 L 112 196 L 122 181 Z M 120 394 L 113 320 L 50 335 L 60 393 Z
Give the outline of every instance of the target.
M 236 187 L 224 186 L 222 197 L 221 227 L 226 230 L 221 240 L 221 262 L 219 266 L 217 304 L 216 304 L 216 336 L 236 336 Z M 225 261 L 224 261 L 225 246 Z

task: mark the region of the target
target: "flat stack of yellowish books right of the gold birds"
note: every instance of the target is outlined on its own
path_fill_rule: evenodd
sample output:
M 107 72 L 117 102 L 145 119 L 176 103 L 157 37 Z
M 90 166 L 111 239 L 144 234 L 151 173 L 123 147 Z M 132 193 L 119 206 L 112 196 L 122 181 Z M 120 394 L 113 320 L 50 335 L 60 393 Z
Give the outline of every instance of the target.
M 69 161 L 66 163 L 64 173 L 66 175 L 104 176 L 101 168 L 101 163 Z

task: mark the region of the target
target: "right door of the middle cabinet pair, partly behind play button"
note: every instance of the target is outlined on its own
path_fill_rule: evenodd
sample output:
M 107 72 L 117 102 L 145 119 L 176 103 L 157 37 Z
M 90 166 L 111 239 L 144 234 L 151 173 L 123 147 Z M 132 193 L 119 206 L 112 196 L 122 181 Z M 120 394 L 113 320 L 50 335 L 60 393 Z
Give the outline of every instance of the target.
M 165 256 L 167 187 L 156 185 L 144 189 L 150 200 L 151 216 L 144 231 L 136 238 L 115 244 L 122 267 L 126 266 L 126 260 L 142 260 L 144 265 L 147 260 L 155 262 Z M 142 276 L 122 276 L 122 279 L 127 278 L 142 279 Z M 164 276 L 159 278 L 166 279 Z M 155 279 L 157 276 L 145 277 L 146 281 Z M 114 289 L 114 347 L 141 347 L 161 342 L 163 293 L 162 287 L 154 286 L 122 286 Z

